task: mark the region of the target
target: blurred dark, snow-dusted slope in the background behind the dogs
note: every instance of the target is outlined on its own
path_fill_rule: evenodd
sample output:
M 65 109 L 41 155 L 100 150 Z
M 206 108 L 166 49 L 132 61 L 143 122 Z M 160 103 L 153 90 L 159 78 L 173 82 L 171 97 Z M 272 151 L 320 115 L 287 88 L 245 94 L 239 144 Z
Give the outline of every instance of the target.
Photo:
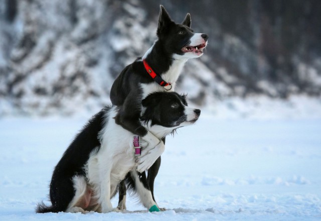
M 114 78 L 156 39 L 159 4 L 210 36 L 178 91 L 211 105 L 230 96 L 321 94 L 321 2 L 2 0 L 0 116 L 70 115 L 109 103 Z

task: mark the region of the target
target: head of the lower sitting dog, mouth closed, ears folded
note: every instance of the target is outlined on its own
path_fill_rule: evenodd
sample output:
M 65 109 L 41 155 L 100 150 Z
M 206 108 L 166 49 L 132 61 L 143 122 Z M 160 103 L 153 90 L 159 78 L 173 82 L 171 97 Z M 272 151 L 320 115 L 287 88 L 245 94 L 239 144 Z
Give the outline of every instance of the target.
M 158 137 L 164 137 L 177 128 L 194 124 L 201 114 L 200 109 L 187 106 L 186 95 L 176 92 L 151 93 L 142 100 L 142 106 L 140 120 Z

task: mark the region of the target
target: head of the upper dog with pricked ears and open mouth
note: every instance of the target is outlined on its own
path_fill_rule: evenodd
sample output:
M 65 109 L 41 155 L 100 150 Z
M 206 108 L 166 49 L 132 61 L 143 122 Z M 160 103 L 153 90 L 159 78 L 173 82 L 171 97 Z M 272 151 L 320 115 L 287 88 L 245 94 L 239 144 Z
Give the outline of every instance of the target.
M 175 23 L 163 6 L 159 12 L 157 37 L 167 52 L 175 59 L 196 58 L 203 55 L 208 36 L 194 33 L 191 29 L 191 15 L 188 13 L 182 24 Z

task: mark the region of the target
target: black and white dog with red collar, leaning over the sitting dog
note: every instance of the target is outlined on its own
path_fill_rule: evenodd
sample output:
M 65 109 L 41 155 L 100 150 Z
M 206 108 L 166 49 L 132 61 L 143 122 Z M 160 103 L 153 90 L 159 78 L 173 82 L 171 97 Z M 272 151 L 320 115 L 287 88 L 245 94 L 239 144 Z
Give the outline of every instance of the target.
M 186 15 L 182 24 L 177 24 L 170 18 L 163 6 L 158 18 L 158 39 L 142 58 L 125 67 L 112 85 L 110 100 L 119 107 L 115 117 L 116 124 L 129 132 L 141 137 L 146 142 L 147 149 L 162 148 L 165 139 L 159 141 L 139 121 L 142 109 L 141 100 L 149 93 L 156 91 L 174 91 L 176 81 L 182 72 L 184 64 L 190 58 L 203 55 L 208 36 L 194 33 L 191 29 L 191 16 Z M 156 157 L 156 158 L 155 158 Z M 161 164 L 160 156 L 150 156 L 148 163 L 138 165 L 137 171 L 142 173 L 145 186 L 151 190 Z M 149 169 L 150 168 L 150 169 Z M 148 177 L 144 171 L 148 169 Z M 125 208 L 126 187 L 120 184 L 119 208 Z

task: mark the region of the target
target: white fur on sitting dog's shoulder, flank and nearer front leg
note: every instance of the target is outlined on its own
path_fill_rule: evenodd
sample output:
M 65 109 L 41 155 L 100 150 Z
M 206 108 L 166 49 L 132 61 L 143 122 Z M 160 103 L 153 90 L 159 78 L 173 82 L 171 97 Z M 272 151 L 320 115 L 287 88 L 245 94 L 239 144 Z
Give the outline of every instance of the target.
M 135 166 L 133 155 L 133 135 L 115 124 L 117 108 L 107 114 L 108 123 L 99 134 L 101 147 L 93 153 L 86 165 L 87 179 L 93 186 L 101 212 L 113 211 L 110 198 L 114 195 L 120 180 Z

